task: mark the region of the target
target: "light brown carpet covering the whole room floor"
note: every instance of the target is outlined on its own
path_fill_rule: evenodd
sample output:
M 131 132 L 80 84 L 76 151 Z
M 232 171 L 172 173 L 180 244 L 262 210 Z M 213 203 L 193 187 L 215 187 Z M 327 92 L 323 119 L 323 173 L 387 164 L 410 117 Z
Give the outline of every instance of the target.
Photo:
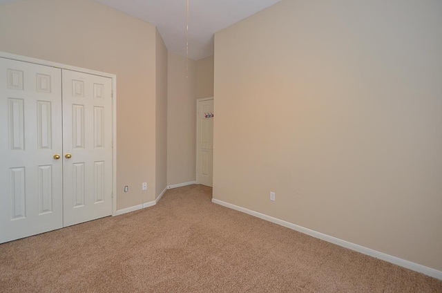
M 0 292 L 442 292 L 442 281 L 215 205 L 191 185 L 0 245 Z

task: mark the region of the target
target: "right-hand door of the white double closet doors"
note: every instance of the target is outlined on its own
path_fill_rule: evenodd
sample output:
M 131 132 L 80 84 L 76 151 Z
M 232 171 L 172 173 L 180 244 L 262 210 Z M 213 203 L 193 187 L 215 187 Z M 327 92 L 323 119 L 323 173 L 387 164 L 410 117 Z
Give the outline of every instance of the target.
M 66 227 L 112 214 L 112 79 L 62 74 Z

